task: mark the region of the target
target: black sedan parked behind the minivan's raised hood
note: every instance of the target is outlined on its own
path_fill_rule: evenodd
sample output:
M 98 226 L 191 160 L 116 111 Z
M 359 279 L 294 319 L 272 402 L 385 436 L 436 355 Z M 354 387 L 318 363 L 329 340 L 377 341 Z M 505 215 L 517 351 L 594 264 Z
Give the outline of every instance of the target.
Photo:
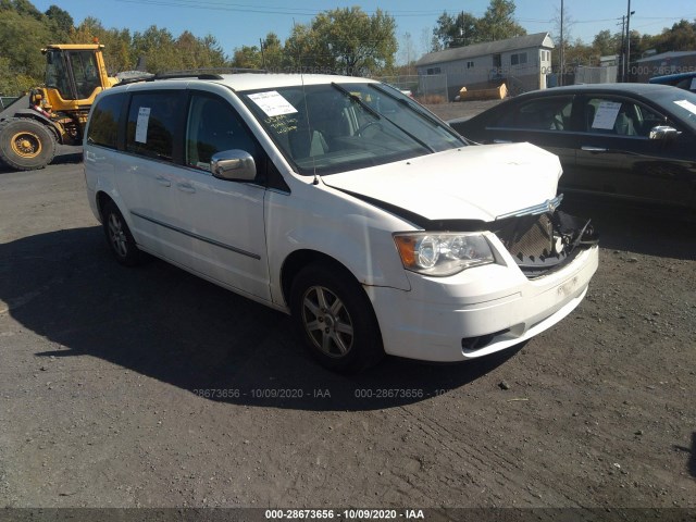
M 557 87 L 450 125 L 483 144 L 558 154 L 559 188 L 696 209 L 696 95 L 664 85 Z

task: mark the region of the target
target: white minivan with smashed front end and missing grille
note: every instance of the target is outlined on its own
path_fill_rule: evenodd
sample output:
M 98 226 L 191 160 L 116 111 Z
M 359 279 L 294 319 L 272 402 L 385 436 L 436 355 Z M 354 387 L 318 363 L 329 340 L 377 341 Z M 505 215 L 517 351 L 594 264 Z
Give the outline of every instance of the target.
M 557 157 L 477 146 L 397 89 L 321 75 L 149 79 L 85 134 L 115 259 L 161 258 L 290 313 L 327 368 L 462 361 L 570 313 L 597 269 Z

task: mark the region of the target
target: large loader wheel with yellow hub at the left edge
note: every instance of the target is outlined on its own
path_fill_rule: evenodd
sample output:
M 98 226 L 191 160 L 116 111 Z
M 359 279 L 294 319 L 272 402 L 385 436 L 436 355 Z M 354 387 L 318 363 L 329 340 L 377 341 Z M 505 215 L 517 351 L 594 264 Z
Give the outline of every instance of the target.
M 12 169 L 44 169 L 54 157 L 55 136 L 42 123 L 27 117 L 0 123 L 0 160 Z

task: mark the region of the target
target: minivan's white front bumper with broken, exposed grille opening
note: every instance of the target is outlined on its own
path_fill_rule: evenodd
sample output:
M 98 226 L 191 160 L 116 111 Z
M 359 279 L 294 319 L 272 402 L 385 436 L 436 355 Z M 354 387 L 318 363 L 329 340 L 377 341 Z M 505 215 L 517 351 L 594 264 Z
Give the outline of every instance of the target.
M 410 291 L 369 288 L 387 353 L 477 358 L 538 335 L 580 304 L 598 265 L 598 235 L 588 220 L 555 211 L 490 225 L 495 264 L 451 277 L 408 272 Z

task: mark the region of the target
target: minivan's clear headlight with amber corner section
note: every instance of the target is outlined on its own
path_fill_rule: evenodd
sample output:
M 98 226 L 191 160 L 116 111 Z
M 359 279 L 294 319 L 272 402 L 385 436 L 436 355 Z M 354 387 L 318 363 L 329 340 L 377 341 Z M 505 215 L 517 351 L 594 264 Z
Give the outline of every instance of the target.
M 482 234 L 403 233 L 395 234 L 403 268 L 424 275 L 452 275 L 471 266 L 495 262 Z

